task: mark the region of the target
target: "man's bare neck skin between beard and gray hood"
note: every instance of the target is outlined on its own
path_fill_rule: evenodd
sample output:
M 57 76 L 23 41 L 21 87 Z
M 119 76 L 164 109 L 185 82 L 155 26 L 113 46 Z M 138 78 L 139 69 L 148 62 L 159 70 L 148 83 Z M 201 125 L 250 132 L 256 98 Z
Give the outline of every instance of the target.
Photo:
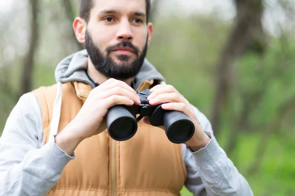
M 88 71 L 88 74 L 89 76 L 95 81 L 97 82 L 98 84 L 102 84 L 104 83 L 105 81 L 107 81 L 108 79 L 110 79 L 109 77 L 103 75 L 102 73 L 98 72 L 92 61 L 90 60 L 90 58 L 88 57 L 88 68 L 87 68 L 87 71 Z M 127 79 L 127 80 L 122 80 L 123 82 L 125 82 L 126 84 L 128 84 L 129 86 L 131 86 L 132 84 L 132 79 L 133 78 L 130 78 L 130 79 Z

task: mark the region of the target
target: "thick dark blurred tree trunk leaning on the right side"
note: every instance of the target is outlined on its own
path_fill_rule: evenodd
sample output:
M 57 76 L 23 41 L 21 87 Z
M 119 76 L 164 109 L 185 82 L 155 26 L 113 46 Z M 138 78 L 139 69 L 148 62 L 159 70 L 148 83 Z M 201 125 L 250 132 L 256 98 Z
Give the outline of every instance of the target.
M 263 10 L 262 0 L 236 0 L 234 26 L 216 66 L 216 94 L 211 123 L 217 136 L 222 110 L 226 108 L 234 87 L 236 59 L 249 50 L 259 54 L 265 50 L 266 40 L 261 23 Z

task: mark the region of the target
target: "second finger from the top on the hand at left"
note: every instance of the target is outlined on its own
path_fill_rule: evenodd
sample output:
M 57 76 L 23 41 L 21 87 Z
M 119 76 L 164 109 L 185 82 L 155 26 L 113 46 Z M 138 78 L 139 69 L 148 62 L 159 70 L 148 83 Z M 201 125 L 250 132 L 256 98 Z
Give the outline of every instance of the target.
M 111 88 L 103 93 L 100 94 L 99 99 L 105 99 L 112 95 L 119 95 L 126 98 L 130 98 L 134 101 L 135 104 L 140 104 L 140 98 L 138 96 L 135 96 L 133 93 L 130 93 L 130 91 L 127 91 L 126 89 L 116 86 L 114 88 Z

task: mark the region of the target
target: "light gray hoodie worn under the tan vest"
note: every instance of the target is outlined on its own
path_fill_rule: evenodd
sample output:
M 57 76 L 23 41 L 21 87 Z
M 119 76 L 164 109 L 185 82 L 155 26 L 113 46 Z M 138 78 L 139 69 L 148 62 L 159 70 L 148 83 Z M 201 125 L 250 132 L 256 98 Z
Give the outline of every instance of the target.
M 57 81 L 85 82 L 92 87 L 85 70 L 86 50 L 63 59 L 56 68 Z M 145 60 L 133 81 L 136 89 L 146 79 L 165 78 Z M 253 196 L 245 178 L 237 171 L 224 150 L 219 147 L 206 116 L 194 107 L 195 113 L 210 137 L 206 147 L 192 152 L 182 145 L 187 170 L 185 186 L 194 196 Z M 11 111 L 0 138 L 0 196 L 43 196 L 59 180 L 68 156 L 54 140 L 43 145 L 41 110 L 32 93 L 23 95 Z

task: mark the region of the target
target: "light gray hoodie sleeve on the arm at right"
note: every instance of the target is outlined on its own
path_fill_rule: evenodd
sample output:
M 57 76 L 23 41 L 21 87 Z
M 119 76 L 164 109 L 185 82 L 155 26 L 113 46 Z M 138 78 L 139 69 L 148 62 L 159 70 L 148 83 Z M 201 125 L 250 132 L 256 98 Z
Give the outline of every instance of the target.
M 218 145 L 209 120 L 197 108 L 194 109 L 211 140 L 206 147 L 196 152 L 183 145 L 187 189 L 194 196 L 253 196 L 246 179 Z

